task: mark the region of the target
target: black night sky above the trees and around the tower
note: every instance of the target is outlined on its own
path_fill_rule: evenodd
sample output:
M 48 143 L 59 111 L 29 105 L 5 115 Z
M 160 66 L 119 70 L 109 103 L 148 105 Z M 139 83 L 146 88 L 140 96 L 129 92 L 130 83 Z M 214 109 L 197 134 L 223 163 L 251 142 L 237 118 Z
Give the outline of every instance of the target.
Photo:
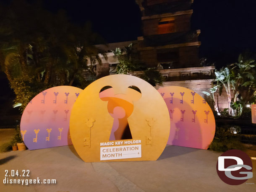
M 42 0 L 42 3 L 53 13 L 65 10 L 71 22 L 78 25 L 90 21 L 93 30 L 108 43 L 142 36 L 141 12 L 135 0 Z M 192 8 L 191 28 L 201 29 L 200 57 L 216 62 L 219 68 L 236 62 L 238 54 L 246 49 L 256 53 L 256 0 L 194 0 Z M 3 73 L 0 77 L 1 87 L 10 90 Z

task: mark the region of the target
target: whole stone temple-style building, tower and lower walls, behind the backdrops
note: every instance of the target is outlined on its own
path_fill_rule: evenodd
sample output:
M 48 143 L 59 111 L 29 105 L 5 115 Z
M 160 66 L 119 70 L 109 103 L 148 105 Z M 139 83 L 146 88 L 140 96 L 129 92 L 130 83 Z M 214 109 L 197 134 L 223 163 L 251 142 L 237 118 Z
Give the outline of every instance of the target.
M 165 79 L 163 86 L 182 86 L 199 93 L 209 103 L 212 100 L 202 91 L 212 88 L 214 66 L 202 67 L 199 62 L 198 40 L 200 30 L 191 30 L 193 0 L 143 0 L 139 4 L 143 36 L 129 42 L 111 43 L 108 47 L 96 45 L 106 51 L 102 65 L 96 64 L 99 77 L 115 74 L 118 60 L 111 50 L 133 43 L 139 60 L 147 67 L 155 67 Z M 88 63 L 90 65 L 90 62 Z M 136 71 L 132 75 L 140 76 Z M 156 86 L 160 88 L 160 86 Z M 225 93 L 219 96 L 220 108 L 227 108 Z

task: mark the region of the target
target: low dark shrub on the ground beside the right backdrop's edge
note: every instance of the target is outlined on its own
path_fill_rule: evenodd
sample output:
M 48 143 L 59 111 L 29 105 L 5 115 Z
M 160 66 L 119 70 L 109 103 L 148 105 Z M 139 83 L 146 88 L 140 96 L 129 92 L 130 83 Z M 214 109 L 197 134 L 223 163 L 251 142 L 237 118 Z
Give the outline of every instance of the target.
M 217 126 L 214 139 L 209 146 L 209 149 L 219 152 L 225 152 L 230 149 L 244 150 L 245 146 L 241 143 L 240 136 L 233 133 L 234 130 L 239 133 L 240 127 L 227 124 Z

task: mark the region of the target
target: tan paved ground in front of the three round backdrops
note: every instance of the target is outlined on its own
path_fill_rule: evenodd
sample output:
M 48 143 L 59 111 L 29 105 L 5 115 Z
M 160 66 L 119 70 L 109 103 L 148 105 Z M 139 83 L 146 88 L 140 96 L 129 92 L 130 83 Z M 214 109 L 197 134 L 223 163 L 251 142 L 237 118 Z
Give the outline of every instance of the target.
M 72 145 L 0 153 L 2 192 L 255 192 L 254 177 L 238 186 L 222 182 L 216 172 L 220 153 L 167 146 L 157 161 L 84 163 Z M 3 184 L 5 170 L 30 170 L 29 179 L 57 184 Z

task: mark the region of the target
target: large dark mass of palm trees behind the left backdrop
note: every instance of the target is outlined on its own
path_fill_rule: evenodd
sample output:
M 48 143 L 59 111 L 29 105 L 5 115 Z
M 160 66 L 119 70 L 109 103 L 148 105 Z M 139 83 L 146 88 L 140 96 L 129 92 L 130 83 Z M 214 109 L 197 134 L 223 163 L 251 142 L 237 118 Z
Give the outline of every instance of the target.
M 62 11 L 52 14 L 40 5 L 20 0 L 2 7 L 0 65 L 16 94 L 15 106 L 21 111 L 49 87 L 84 88 L 87 61 L 101 64 L 99 53 L 106 58 L 94 46 L 103 40 L 91 31 L 89 23 L 74 26 Z

